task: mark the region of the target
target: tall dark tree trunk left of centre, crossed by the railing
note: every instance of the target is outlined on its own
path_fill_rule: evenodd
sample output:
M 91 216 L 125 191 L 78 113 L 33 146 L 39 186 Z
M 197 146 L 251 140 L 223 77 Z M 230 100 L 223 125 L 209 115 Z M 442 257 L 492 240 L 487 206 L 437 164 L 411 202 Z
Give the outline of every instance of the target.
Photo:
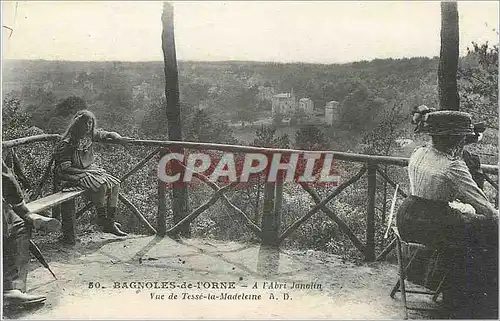
M 182 140 L 181 108 L 179 102 L 179 75 L 175 53 L 174 8 L 168 2 L 163 3 L 162 14 L 162 49 L 165 63 L 165 97 L 167 101 L 167 127 L 169 140 Z M 172 153 L 183 153 L 182 148 L 170 148 Z M 163 153 L 162 153 L 163 154 Z M 173 175 L 181 173 L 183 168 L 177 163 L 172 164 Z M 188 190 L 185 184 L 176 183 L 172 186 L 172 211 L 174 224 L 180 222 L 188 214 Z M 160 193 L 161 194 L 161 193 Z M 190 236 L 189 225 L 180 229 L 184 237 Z

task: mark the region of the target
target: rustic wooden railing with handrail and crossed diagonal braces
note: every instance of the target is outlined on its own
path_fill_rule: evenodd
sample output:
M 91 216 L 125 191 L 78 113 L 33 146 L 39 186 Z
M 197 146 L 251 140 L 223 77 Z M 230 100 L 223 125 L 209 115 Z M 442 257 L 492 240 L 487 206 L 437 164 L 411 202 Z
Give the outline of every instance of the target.
M 41 141 L 57 141 L 60 137 L 58 135 L 38 135 L 32 137 L 25 137 L 15 140 L 4 141 L 2 146 L 5 149 L 14 150 L 15 147 L 25 144 L 30 144 L 33 142 L 41 142 Z M 308 221 L 311 217 L 313 217 L 317 212 L 322 211 L 328 218 L 334 221 L 340 230 L 349 238 L 352 244 L 364 255 L 367 261 L 373 261 L 375 259 L 381 259 L 385 257 L 385 255 L 392 249 L 394 242 L 389 243 L 387 247 L 385 247 L 381 253 L 376 256 L 376 230 L 375 230 L 375 221 L 376 221 L 376 191 L 377 191 L 377 176 L 382 178 L 387 182 L 389 186 L 393 188 L 396 186 L 396 182 L 390 178 L 389 174 L 384 171 L 381 165 L 395 165 L 399 167 L 405 167 L 408 164 L 408 158 L 404 157 L 388 157 L 388 156 L 375 156 L 375 155 L 364 155 L 364 154 L 354 154 L 354 153 L 345 153 L 345 152 L 336 152 L 336 151 L 310 151 L 310 150 L 294 150 L 294 149 L 280 149 L 280 148 L 262 148 L 262 147 L 252 147 L 252 146 L 240 146 L 240 145 L 226 145 L 226 144 L 209 144 L 209 143 L 198 143 L 198 142 L 184 142 L 184 141 L 159 141 L 159 140 L 136 140 L 136 139 L 122 139 L 122 140 L 113 140 L 113 141 L 104 141 L 106 144 L 120 144 L 120 145 L 128 145 L 128 146 L 149 146 L 152 147 L 152 151 L 144 157 L 140 162 L 134 165 L 127 173 L 122 175 L 122 182 L 126 181 L 129 177 L 131 177 L 134 173 L 140 170 L 143 166 L 146 165 L 151 159 L 153 159 L 158 154 L 165 154 L 170 152 L 171 149 L 178 150 L 179 148 L 183 148 L 185 150 L 214 150 L 214 151 L 225 151 L 232 153 L 262 153 L 262 154 L 272 154 L 272 153 L 281 153 L 282 155 L 291 154 L 291 153 L 314 153 L 314 154 L 330 154 L 333 159 L 342 160 L 353 163 L 360 163 L 361 167 L 358 172 L 345 180 L 341 184 L 339 184 L 329 195 L 325 198 L 321 199 L 318 195 L 317 191 L 313 188 L 313 186 L 308 183 L 298 183 L 303 190 L 305 190 L 312 198 L 314 203 L 316 204 L 312 207 L 306 214 L 302 217 L 296 219 L 286 228 L 281 228 L 281 217 L 279 210 L 278 211 L 268 211 L 267 216 L 263 218 L 262 224 L 259 227 L 252 219 L 247 215 L 244 211 L 238 208 L 235 204 L 233 204 L 229 198 L 226 196 L 231 188 L 234 188 L 237 183 L 229 183 L 225 186 L 219 186 L 217 183 L 210 181 L 207 177 L 199 173 L 193 173 L 193 177 L 204 182 L 208 185 L 214 192 L 211 197 L 203 204 L 195 208 L 191 213 L 184 213 L 182 220 L 175 222 L 173 226 L 167 229 L 165 223 L 165 213 L 167 211 L 166 203 L 164 201 L 158 202 L 158 219 L 156 229 L 153 227 L 150 222 L 140 213 L 136 206 L 125 197 L 125 195 L 119 195 L 120 200 L 123 202 L 125 206 L 127 206 L 131 212 L 139 218 L 139 220 L 148 228 L 151 233 L 155 234 L 166 234 L 171 237 L 177 237 L 180 229 L 183 226 L 189 225 L 196 219 L 199 215 L 213 206 L 219 199 L 223 201 L 223 203 L 234 213 L 238 215 L 238 217 L 243 221 L 243 223 L 248 227 L 253 234 L 258 237 L 262 244 L 267 245 L 275 245 L 279 246 L 285 239 L 287 239 L 292 233 L 294 233 L 302 224 Z M 14 153 L 15 154 L 15 153 Z M 48 161 L 47 169 L 44 175 L 41 177 L 40 181 L 37 184 L 36 197 L 39 197 L 39 192 L 42 189 L 42 185 L 44 181 L 47 179 L 50 174 L 50 165 L 52 163 L 52 159 Z M 189 170 L 183 166 L 184 170 Z M 485 174 L 493 174 L 496 175 L 496 179 L 493 179 L 487 176 L 486 181 L 493 186 L 498 191 L 498 167 L 494 165 L 482 165 L 481 166 L 483 172 Z M 343 190 L 353 185 L 354 183 L 361 180 L 363 176 L 366 175 L 367 179 L 367 202 L 366 202 L 366 231 L 365 231 L 365 242 L 363 243 L 355 233 L 349 228 L 349 226 L 338 216 L 335 214 L 334 209 L 328 207 L 328 203 L 337 197 Z M 275 183 L 275 188 L 280 188 L 280 182 Z M 159 185 L 160 186 L 160 185 Z M 406 197 L 408 195 L 402 188 L 398 188 L 398 194 L 402 197 Z M 277 202 L 281 202 L 281 200 L 277 200 Z M 78 212 L 74 209 L 74 206 L 66 206 L 65 211 L 69 211 L 70 213 L 65 212 L 65 216 L 70 216 L 72 221 L 75 218 L 78 218 L 83 212 L 90 208 L 91 204 L 88 203 Z M 64 216 L 63 216 L 64 220 Z M 161 232 L 165 231 L 165 233 Z

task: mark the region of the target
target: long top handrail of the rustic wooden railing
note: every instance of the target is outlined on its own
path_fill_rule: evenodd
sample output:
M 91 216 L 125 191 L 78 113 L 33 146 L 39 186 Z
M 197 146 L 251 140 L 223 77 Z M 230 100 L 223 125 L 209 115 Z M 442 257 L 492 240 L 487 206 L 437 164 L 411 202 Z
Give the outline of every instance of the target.
M 43 134 L 29 137 L 22 137 L 13 140 L 2 142 L 3 148 L 10 148 L 18 145 L 23 145 L 39 141 L 52 141 L 61 136 L 58 134 Z M 194 150 L 219 150 L 225 152 L 241 152 L 241 153 L 282 153 L 282 154 L 331 154 L 333 159 L 358 162 L 358 163 L 373 163 L 373 164 L 387 164 L 405 167 L 408 165 L 409 158 L 407 157 L 394 157 L 394 156 L 378 156 L 356 154 L 348 152 L 337 152 L 331 150 L 312 151 L 300 149 L 285 149 L 285 148 L 268 148 L 268 147 L 254 147 L 242 145 L 229 145 L 229 144 L 216 144 L 216 143 L 200 143 L 188 141 L 169 141 L 169 140 L 146 140 L 146 139 L 119 139 L 119 140 L 106 140 L 103 143 L 120 144 L 120 145 L 140 145 L 140 146 L 156 146 L 156 147 L 178 147 Z M 481 164 L 481 169 L 488 174 L 498 174 L 497 165 Z

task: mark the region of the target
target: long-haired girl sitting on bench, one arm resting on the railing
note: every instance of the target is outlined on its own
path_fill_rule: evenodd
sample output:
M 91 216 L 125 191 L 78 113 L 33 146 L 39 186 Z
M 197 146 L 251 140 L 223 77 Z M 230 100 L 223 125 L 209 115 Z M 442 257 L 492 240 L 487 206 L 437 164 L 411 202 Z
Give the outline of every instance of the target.
M 95 166 L 93 153 L 94 141 L 119 138 L 118 133 L 96 130 L 96 118 L 90 110 L 77 112 L 56 146 L 54 177 L 61 189 L 86 189 L 102 231 L 125 236 L 115 222 L 120 180 Z

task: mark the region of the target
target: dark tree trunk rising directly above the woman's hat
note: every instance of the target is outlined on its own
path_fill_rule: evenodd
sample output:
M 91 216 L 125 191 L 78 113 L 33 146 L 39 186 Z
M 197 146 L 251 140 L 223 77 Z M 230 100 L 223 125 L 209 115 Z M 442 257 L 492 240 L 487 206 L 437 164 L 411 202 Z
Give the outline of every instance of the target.
M 458 45 L 457 3 L 441 2 L 441 51 L 438 68 L 439 109 L 460 109 L 457 88 Z

